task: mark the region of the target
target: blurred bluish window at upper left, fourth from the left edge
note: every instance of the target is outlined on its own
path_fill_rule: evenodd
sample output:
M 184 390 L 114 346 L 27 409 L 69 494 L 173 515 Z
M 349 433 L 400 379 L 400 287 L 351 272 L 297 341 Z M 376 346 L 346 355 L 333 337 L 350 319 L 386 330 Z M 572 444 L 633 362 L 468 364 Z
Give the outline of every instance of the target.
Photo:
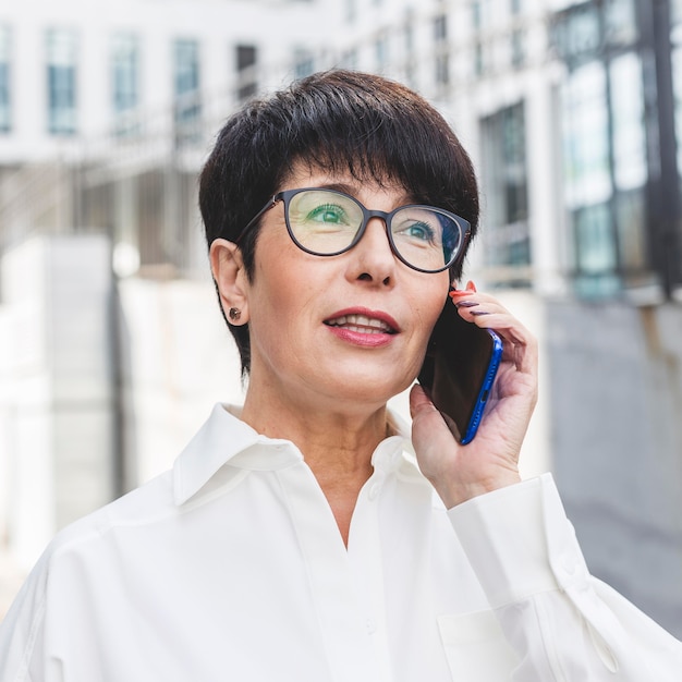
M 181 137 L 195 137 L 202 115 L 199 45 L 194 39 L 174 42 L 175 125 Z

